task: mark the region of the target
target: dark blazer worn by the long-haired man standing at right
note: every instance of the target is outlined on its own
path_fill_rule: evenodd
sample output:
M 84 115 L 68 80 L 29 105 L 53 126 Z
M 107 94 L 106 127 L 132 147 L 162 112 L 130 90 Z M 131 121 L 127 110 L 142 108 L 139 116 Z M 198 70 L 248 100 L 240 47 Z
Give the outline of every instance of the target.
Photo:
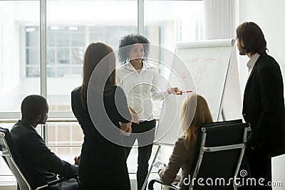
M 284 87 L 279 64 L 259 56 L 244 90 L 244 120 L 252 132 L 247 146 L 274 157 L 285 153 Z

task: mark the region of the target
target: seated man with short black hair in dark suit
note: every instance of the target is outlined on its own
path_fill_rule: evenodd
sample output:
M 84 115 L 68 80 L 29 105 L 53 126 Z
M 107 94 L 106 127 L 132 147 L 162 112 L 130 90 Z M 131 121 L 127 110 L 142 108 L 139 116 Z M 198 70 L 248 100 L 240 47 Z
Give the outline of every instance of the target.
M 78 166 L 69 164 L 46 147 L 36 126 L 48 118 L 48 104 L 40 95 L 29 95 L 21 104 L 22 118 L 12 128 L 11 139 L 36 186 L 60 176 L 78 176 Z M 50 189 L 79 189 L 75 179 L 51 186 Z

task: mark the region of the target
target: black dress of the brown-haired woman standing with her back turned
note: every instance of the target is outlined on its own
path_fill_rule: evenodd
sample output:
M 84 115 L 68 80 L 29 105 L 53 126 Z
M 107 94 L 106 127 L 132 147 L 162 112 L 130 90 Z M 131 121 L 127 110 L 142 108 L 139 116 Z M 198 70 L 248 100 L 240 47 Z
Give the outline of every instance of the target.
M 115 96 L 118 98 L 115 104 Z M 130 122 L 131 115 L 128 110 L 125 93 L 120 87 L 113 86 L 104 95 L 90 95 L 93 102 L 88 102 L 83 107 L 81 102 L 81 88 L 76 88 L 71 93 L 71 105 L 74 115 L 84 133 L 84 142 L 81 149 L 81 162 L 79 164 L 79 178 L 83 189 L 130 189 L 130 179 L 125 161 L 125 149 L 119 144 L 110 142 L 110 139 L 103 137 L 93 124 L 99 122 L 101 130 L 110 130 L 112 127 L 120 127 L 119 122 Z M 104 109 L 98 104 L 103 98 Z M 117 99 L 116 99 L 117 100 Z M 116 106 L 117 105 L 117 106 Z M 92 106 L 92 107 L 90 107 Z M 89 109 L 95 109 L 96 114 L 91 120 Z M 120 112 L 118 109 L 120 108 Z M 105 118 L 103 113 L 107 113 Z M 126 117 L 122 117 L 125 113 Z M 91 113 L 93 114 L 93 113 Z M 113 122 L 102 122 L 102 118 Z M 97 125 L 97 124 L 96 124 Z M 120 132 L 115 132 L 116 138 L 120 139 Z

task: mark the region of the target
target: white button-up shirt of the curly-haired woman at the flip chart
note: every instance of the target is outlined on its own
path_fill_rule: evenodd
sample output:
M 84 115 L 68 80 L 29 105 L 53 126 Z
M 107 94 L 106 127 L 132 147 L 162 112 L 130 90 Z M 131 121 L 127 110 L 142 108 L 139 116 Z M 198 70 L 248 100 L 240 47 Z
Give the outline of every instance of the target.
M 155 65 L 143 62 L 138 73 L 128 62 L 116 70 L 118 85 L 123 88 L 128 105 L 138 114 L 139 121 L 155 119 L 153 101 L 162 100 L 169 95 L 167 90 L 161 90 L 159 80 L 162 78 Z

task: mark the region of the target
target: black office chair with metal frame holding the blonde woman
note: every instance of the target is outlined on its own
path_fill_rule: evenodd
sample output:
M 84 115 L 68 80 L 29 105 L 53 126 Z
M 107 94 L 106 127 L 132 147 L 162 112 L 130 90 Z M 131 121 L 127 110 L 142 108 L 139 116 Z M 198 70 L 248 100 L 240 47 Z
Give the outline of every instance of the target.
M 237 190 L 237 184 L 242 182 L 237 180 L 237 174 L 244 156 L 249 129 L 249 123 L 242 123 L 242 120 L 200 125 L 196 156 L 190 172 L 191 181 L 188 181 L 189 189 Z M 199 179 L 202 181 L 198 183 Z M 152 179 L 148 189 L 153 190 L 155 182 L 163 184 L 160 179 Z M 180 189 L 172 184 L 165 186 Z

